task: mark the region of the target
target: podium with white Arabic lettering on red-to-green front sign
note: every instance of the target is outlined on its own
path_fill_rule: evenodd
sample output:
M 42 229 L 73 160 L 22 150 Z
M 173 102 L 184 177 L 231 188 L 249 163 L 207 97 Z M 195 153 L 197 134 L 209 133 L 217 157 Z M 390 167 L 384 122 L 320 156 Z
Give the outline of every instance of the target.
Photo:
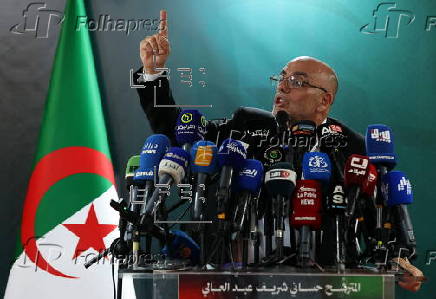
M 395 297 L 393 273 L 362 270 L 345 273 L 293 267 L 238 272 L 120 270 L 118 275 L 123 280 L 133 280 L 137 299 Z M 123 289 L 123 293 L 125 291 Z

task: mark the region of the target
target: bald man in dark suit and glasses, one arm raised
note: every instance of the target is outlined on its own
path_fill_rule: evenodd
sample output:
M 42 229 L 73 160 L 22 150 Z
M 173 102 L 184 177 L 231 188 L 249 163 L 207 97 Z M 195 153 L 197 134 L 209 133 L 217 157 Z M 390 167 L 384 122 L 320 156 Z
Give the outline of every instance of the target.
M 161 28 L 159 33 L 148 36 L 140 43 L 140 57 L 142 68 L 134 74 L 136 84 L 144 85 L 138 88 L 141 106 L 150 122 L 151 128 L 155 133 L 167 135 L 176 144 L 174 137 L 174 127 L 180 109 L 176 107 L 155 107 L 158 105 L 175 105 L 166 73 L 159 69 L 165 67 L 166 60 L 170 54 L 170 43 L 168 39 L 167 15 L 161 11 Z M 355 133 L 339 121 L 328 117 L 331 106 L 335 101 L 338 91 L 338 77 L 335 71 L 326 63 L 313 57 L 302 56 L 289 61 L 281 70 L 280 74 L 271 77 L 276 82 L 276 93 L 274 96 L 272 112 L 243 110 L 240 115 L 247 116 L 252 120 L 258 129 L 265 128 L 265 123 L 274 120 L 278 111 L 285 111 L 289 114 L 291 123 L 302 120 L 311 120 L 317 126 L 321 124 L 338 125 L 347 136 L 347 144 L 341 150 L 345 160 L 351 154 L 365 154 L 365 142 L 360 134 Z M 254 114 L 252 113 L 255 111 Z M 258 119 L 260 117 L 260 119 Z M 252 119 L 250 119 L 252 118 Z M 261 121 L 259 121 L 261 120 Z M 263 120 L 266 120 L 264 122 Z M 210 121 L 207 127 L 207 140 L 216 140 L 219 132 L 220 139 L 229 137 L 230 132 L 238 127 L 239 119 L 215 120 Z M 268 127 L 268 126 L 267 126 Z M 257 128 L 250 126 L 251 131 Z M 268 131 L 267 135 L 273 132 Z M 256 140 L 256 143 L 259 140 Z M 253 139 L 249 139 L 250 146 L 254 146 Z M 249 146 L 249 148 L 250 148 Z M 265 148 L 256 147 L 253 149 L 254 158 L 259 160 L 264 154 Z M 326 221 L 324 221 L 326 220 Z M 334 234 L 329 233 L 334 230 L 334 223 L 326 217 L 323 219 L 324 234 L 331 238 Z M 334 263 L 334 240 L 329 239 L 323 242 L 324 256 L 321 257 L 322 263 L 329 265 Z M 409 286 L 410 287 L 410 286 Z M 410 287 L 411 289 L 419 287 Z

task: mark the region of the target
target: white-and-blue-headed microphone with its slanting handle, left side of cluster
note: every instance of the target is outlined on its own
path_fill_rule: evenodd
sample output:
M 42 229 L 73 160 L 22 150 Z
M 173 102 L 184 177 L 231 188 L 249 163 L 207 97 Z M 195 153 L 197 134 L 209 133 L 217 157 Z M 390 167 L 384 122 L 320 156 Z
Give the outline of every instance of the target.
M 141 226 L 147 227 L 151 225 L 152 215 L 154 215 L 156 208 L 168 196 L 169 191 L 161 192 L 159 187 L 169 187 L 171 185 L 178 185 L 184 178 L 186 169 L 189 163 L 189 154 L 178 147 L 171 147 L 163 156 L 159 163 L 159 184 L 151 195 L 150 200 L 145 205 L 144 212 L 141 216 Z M 163 193 L 163 194 L 162 194 Z

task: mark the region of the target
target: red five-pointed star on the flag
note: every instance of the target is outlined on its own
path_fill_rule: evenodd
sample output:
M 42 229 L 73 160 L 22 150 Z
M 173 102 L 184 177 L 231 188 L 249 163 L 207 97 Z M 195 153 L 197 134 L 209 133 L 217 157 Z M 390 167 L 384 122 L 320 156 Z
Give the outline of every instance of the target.
M 83 224 L 64 224 L 64 226 L 79 237 L 76 250 L 74 251 L 73 259 L 80 255 L 80 253 L 94 248 L 98 252 L 106 249 L 103 238 L 112 232 L 117 226 L 113 224 L 100 224 L 95 215 L 94 205 L 88 211 L 88 217 Z

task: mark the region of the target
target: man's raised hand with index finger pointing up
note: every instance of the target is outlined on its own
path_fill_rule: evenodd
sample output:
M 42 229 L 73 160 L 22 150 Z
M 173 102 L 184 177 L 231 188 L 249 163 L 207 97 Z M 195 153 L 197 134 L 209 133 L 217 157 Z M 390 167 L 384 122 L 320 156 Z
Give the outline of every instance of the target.
M 147 36 L 139 44 L 139 54 L 141 56 L 144 72 L 156 74 L 156 68 L 165 66 L 165 62 L 170 54 L 170 42 L 168 40 L 167 12 L 160 11 L 159 33 Z

